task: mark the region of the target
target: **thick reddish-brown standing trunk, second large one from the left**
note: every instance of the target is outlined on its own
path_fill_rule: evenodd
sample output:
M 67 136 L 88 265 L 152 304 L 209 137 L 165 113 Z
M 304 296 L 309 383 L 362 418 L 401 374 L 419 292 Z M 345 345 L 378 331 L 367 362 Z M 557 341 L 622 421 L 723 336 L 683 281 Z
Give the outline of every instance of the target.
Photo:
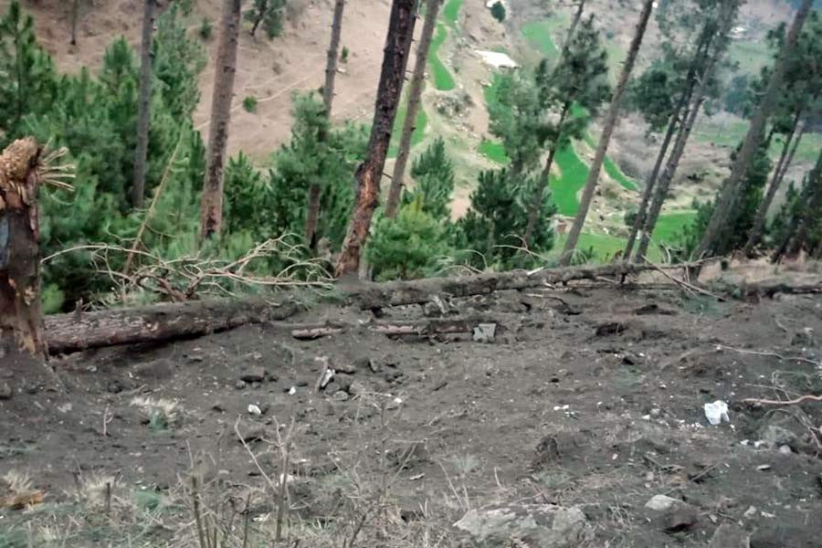
M 219 234 L 223 224 L 223 171 L 226 164 L 228 124 L 231 121 L 231 100 L 234 96 L 234 76 L 237 73 L 240 3 L 240 0 L 223 0 L 200 212 L 202 239 Z

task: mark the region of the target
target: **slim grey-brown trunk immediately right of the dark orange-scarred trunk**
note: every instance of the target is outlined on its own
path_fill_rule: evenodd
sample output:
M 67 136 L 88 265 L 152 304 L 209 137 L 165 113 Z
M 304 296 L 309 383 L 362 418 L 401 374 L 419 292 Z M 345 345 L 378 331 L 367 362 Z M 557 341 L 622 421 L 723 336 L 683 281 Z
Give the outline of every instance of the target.
M 406 120 L 403 121 L 403 132 L 400 134 L 399 152 L 394 164 L 394 174 L 391 177 L 391 187 L 388 190 L 388 204 L 385 206 L 385 216 L 396 216 L 400 196 L 405 184 L 406 165 L 411 154 L 411 137 L 416 129 L 416 114 L 419 112 L 422 92 L 426 86 L 426 67 L 428 51 L 431 49 L 431 38 L 437 27 L 437 13 L 441 0 L 426 1 L 426 19 L 423 24 L 419 45 L 416 47 L 416 61 L 414 74 L 411 77 L 411 86 L 408 89 L 408 108 Z

